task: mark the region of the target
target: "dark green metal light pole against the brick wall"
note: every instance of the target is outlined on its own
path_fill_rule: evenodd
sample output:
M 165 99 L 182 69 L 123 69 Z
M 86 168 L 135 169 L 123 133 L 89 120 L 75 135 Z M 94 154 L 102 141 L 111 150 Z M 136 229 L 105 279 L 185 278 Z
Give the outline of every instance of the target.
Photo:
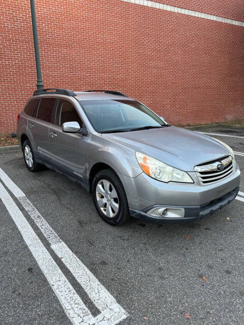
M 37 67 L 37 89 L 41 90 L 41 89 L 43 89 L 43 82 L 42 82 L 38 34 L 37 34 L 37 18 L 36 18 L 35 0 L 30 0 L 30 1 L 31 1 L 31 11 L 32 11 L 33 40 L 34 40 L 36 67 Z

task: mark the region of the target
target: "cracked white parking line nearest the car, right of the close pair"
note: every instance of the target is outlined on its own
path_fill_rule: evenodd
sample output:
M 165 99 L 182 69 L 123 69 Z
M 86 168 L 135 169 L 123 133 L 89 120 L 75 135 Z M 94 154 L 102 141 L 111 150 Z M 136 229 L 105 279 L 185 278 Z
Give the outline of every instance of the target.
M 39 211 L 26 198 L 20 188 L 9 178 L 9 176 L 0 168 L 0 178 L 6 186 L 13 192 L 15 197 L 22 204 L 24 209 L 32 217 L 39 229 L 49 241 L 51 248 L 61 258 L 62 262 L 71 271 L 76 280 L 86 291 L 89 298 L 101 311 L 97 317 L 86 322 L 87 324 L 117 324 L 128 316 L 128 313 L 116 302 L 109 294 L 106 288 L 97 280 L 97 278 L 85 267 L 69 247 L 58 237 L 50 225 L 46 222 Z M 26 221 L 27 222 L 27 221 Z

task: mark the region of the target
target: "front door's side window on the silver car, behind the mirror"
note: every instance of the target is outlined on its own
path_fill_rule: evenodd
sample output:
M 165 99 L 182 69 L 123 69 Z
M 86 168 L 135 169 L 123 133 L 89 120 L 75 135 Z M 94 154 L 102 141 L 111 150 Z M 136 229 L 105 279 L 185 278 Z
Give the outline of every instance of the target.
M 65 122 L 73 121 L 78 122 L 80 127 L 82 126 L 82 121 L 74 106 L 68 101 L 59 100 L 54 123 L 61 126 Z

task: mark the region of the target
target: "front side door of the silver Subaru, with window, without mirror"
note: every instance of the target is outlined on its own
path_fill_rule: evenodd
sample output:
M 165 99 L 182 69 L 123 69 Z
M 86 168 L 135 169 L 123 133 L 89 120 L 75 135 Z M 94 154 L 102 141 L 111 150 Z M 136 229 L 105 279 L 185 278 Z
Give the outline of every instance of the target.
M 64 133 L 61 127 L 63 123 L 72 121 L 82 127 L 83 121 L 74 105 L 65 99 L 58 100 L 54 115 L 54 123 L 49 129 L 52 165 L 83 181 L 87 137 L 80 133 Z

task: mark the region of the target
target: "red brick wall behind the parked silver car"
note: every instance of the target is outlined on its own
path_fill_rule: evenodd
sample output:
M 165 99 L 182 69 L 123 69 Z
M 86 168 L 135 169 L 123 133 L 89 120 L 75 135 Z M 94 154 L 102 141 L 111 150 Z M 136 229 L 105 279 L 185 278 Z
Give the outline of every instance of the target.
M 162 3 L 243 17 L 237 0 Z M 170 123 L 244 119 L 244 27 L 121 0 L 36 0 L 36 10 L 46 88 L 120 90 Z M 36 88 L 36 67 L 29 0 L 0 0 L 0 15 L 7 134 Z

